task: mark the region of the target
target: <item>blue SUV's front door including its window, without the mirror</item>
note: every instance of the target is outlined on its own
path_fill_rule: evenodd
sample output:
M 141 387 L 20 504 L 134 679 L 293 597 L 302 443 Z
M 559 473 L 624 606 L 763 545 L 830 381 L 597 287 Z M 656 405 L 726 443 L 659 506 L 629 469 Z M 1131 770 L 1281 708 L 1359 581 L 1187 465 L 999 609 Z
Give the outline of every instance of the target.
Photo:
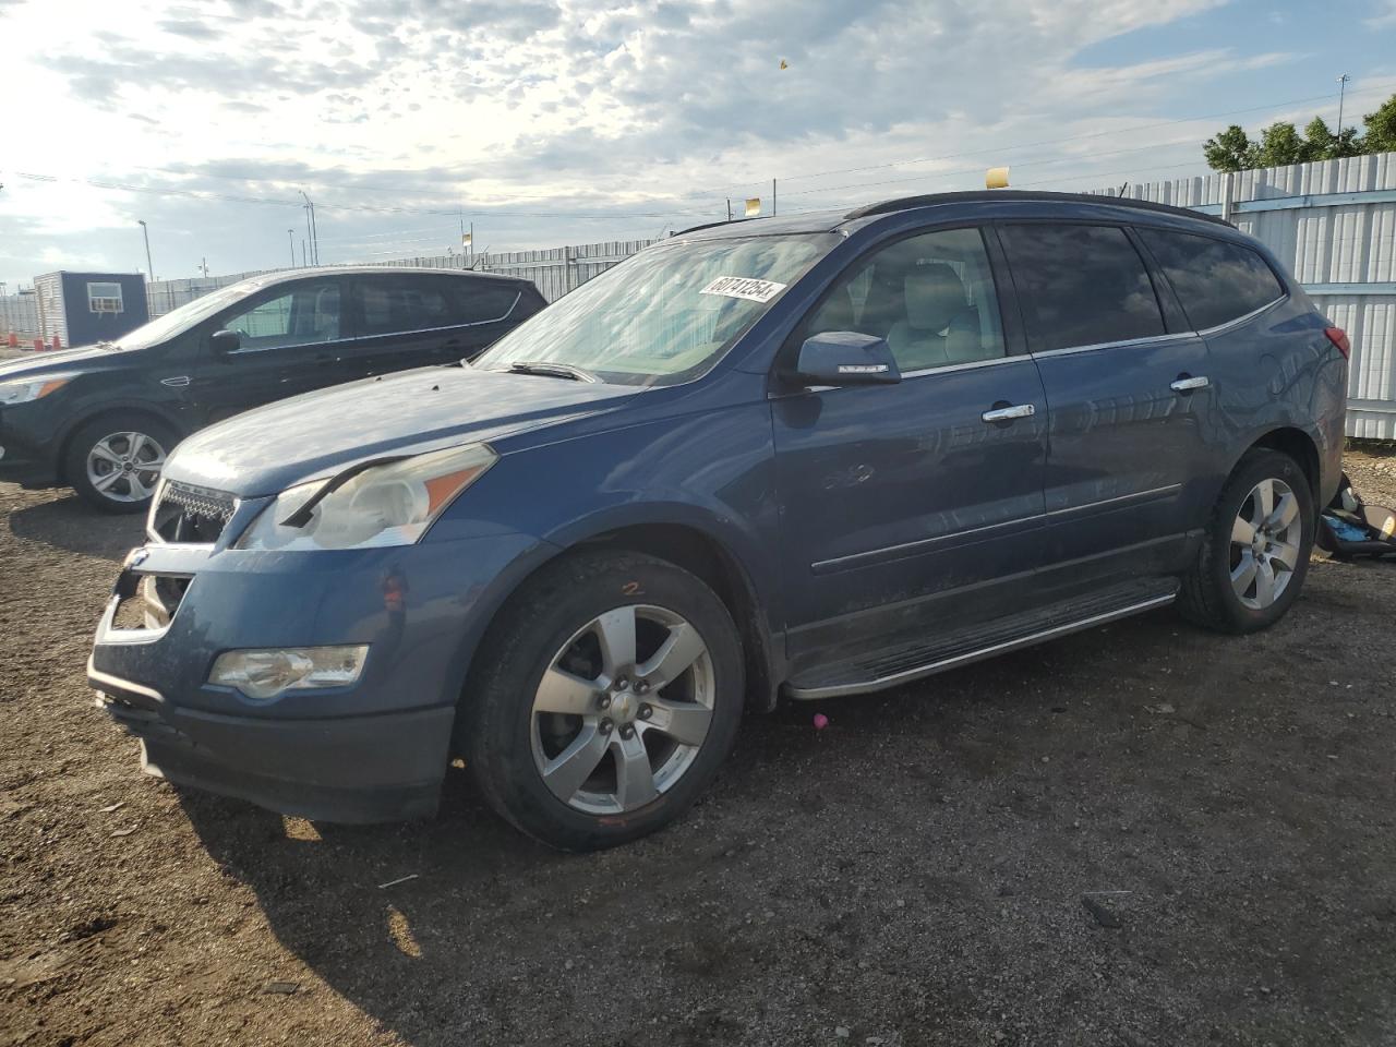
M 772 401 L 794 670 L 1030 600 L 1047 402 L 998 299 L 981 232 L 941 230 L 852 264 L 797 329 L 885 338 L 903 378 Z

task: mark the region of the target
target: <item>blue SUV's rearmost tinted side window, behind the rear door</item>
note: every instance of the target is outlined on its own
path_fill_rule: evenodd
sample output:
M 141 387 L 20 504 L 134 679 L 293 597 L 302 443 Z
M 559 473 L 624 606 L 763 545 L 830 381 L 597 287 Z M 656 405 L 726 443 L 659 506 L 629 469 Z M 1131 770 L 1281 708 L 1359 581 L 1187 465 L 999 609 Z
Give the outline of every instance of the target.
M 1241 244 L 1160 229 L 1139 229 L 1139 236 L 1198 331 L 1284 297 L 1284 286 L 1265 258 Z

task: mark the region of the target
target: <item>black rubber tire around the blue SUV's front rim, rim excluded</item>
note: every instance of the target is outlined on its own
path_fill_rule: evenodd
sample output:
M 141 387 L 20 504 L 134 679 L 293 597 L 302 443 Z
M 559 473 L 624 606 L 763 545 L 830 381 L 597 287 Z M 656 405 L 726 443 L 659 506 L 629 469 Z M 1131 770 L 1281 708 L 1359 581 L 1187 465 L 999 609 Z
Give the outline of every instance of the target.
M 683 616 L 704 638 L 715 676 L 712 726 L 688 771 L 656 800 L 623 815 L 589 815 L 553 796 L 537 773 L 533 694 L 551 658 L 588 621 L 641 604 Z M 462 709 L 468 765 L 496 810 L 563 850 L 627 843 L 677 818 L 726 759 L 741 722 L 744 669 L 732 616 L 699 578 L 653 557 L 578 554 L 544 568 L 501 611 L 480 656 L 490 663 Z

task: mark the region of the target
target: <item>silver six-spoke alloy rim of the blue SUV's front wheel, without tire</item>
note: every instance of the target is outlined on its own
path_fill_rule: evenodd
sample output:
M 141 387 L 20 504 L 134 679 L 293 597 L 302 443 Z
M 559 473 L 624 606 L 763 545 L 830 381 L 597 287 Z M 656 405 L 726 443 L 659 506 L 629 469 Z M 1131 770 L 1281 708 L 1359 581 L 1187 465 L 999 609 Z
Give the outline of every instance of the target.
M 663 607 L 599 614 L 558 651 L 533 695 L 533 764 L 585 814 L 634 811 L 692 766 L 713 718 L 712 656 Z

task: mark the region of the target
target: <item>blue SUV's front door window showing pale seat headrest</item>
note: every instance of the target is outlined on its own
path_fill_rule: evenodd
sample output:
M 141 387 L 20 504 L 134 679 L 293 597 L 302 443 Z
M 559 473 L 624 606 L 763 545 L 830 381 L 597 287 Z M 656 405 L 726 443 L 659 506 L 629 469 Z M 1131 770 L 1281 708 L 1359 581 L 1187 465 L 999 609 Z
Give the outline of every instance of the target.
M 886 339 L 903 374 L 1005 356 L 983 235 L 926 233 L 863 260 L 833 285 L 804 336 L 825 331 Z

